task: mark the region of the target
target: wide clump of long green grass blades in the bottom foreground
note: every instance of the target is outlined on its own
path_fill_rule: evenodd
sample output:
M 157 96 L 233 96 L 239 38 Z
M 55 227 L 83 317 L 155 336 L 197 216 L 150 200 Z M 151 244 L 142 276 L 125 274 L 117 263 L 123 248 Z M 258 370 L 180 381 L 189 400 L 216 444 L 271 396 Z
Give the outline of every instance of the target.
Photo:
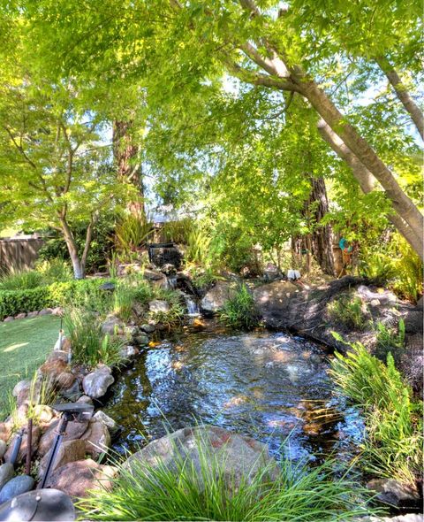
M 202 441 L 197 447 L 199 464 L 190 456 L 177 457 L 172 466 L 140 459 L 132 461 L 131 469 L 117 464 L 112 490 L 92 493 L 79 501 L 79 509 L 90 520 L 252 522 L 351 520 L 373 511 L 366 489 L 345 476 L 335 478 L 332 462 L 309 469 L 284 458 L 277 469 L 264 465 L 235 487 L 223 459 Z

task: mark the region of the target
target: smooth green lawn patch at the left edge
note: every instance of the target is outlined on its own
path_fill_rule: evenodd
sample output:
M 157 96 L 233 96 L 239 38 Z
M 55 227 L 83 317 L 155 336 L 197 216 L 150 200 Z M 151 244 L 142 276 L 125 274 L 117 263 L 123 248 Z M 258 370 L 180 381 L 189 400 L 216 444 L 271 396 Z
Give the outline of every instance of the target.
M 0 418 L 19 380 L 32 377 L 57 341 L 60 319 L 46 315 L 0 324 Z

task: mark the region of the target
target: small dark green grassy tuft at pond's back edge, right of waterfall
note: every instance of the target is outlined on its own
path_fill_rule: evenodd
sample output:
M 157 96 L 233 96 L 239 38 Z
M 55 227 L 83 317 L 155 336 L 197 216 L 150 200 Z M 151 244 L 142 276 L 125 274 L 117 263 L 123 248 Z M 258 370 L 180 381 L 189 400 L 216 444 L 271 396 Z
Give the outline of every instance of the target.
M 251 330 L 259 324 L 259 314 L 254 306 L 254 297 L 246 285 L 239 285 L 232 296 L 219 311 L 218 318 L 226 326 Z

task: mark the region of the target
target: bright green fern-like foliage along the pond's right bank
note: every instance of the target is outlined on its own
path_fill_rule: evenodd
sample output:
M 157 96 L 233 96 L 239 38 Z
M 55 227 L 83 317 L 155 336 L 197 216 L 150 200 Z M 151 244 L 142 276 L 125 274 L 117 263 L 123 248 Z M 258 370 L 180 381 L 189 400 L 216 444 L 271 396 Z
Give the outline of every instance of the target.
M 422 403 L 413 402 L 390 353 L 384 365 L 362 344 L 350 347 L 345 357 L 336 353 L 330 374 L 340 393 L 365 411 L 360 463 L 368 472 L 415 487 L 422 472 Z

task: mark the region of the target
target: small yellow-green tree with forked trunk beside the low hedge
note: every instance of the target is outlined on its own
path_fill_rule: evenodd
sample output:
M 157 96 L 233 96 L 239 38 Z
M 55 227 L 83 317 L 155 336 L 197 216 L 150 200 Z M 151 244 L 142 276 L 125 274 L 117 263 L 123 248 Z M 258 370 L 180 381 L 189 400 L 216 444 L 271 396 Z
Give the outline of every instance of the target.
M 76 279 L 85 276 L 93 229 L 125 199 L 100 142 L 102 121 L 79 106 L 72 84 L 35 86 L 4 78 L 0 86 L 0 202 L 3 224 L 63 234 Z M 72 226 L 87 224 L 79 251 Z

